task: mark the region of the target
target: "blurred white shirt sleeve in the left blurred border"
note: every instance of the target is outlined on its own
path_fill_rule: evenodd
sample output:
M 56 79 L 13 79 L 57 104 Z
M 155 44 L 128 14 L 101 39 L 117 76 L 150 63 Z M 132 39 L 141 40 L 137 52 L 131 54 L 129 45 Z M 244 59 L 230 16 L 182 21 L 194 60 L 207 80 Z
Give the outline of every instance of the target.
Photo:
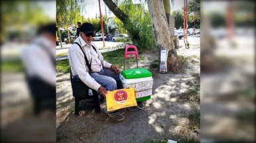
M 56 59 L 56 43 L 44 36 L 38 36 L 23 49 L 21 58 L 29 76 L 38 76 L 52 86 L 56 86 L 56 68 L 52 58 Z

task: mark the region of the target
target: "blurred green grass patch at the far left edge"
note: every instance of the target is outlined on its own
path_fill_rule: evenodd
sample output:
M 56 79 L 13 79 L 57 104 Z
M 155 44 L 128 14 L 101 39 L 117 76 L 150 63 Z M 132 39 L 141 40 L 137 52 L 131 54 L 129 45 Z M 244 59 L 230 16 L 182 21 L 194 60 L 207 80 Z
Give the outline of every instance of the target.
M 1 72 L 23 72 L 25 67 L 20 59 L 1 61 Z

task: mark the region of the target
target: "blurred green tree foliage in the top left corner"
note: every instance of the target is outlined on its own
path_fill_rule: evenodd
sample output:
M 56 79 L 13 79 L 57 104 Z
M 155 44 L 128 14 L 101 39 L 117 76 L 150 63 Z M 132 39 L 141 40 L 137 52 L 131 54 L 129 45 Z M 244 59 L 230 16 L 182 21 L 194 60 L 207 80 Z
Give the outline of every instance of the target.
M 36 1 L 1 2 L 1 38 L 5 40 L 29 40 L 34 37 L 39 24 L 51 22 Z

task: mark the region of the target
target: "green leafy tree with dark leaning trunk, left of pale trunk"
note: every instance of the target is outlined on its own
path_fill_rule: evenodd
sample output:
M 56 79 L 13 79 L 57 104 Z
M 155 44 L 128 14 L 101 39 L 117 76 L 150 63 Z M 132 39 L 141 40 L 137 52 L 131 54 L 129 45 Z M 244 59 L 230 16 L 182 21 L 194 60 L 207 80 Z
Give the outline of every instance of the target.
M 149 12 L 145 11 L 145 3 L 133 4 L 131 0 L 115 3 L 111 0 L 103 1 L 117 17 L 114 21 L 120 33 L 128 32 L 133 44 L 139 49 L 155 47 L 151 18 Z

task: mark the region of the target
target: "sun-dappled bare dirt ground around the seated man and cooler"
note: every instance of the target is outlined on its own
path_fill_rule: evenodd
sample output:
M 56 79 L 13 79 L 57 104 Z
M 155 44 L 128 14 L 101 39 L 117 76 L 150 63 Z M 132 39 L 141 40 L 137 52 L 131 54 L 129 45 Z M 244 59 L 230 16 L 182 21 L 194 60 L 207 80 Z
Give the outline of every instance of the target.
M 151 100 L 145 101 L 145 109 L 126 109 L 125 119 L 120 122 L 107 120 L 109 117 L 104 113 L 103 105 L 101 113 L 88 109 L 80 111 L 80 116 L 76 117 L 70 74 L 58 74 L 57 142 L 149 142 L 181 138 L 199 140 L 200 123 L 189 116 L 194 111 L 200 111 L 200 101 L 190 100 L 188 92 L 198 85 L 200 87 L 200 45 L 191 45 L 190 49 L 180 47 L 177 53 L 190 57 L 187 60 L 188 65 L 180 74 L 160 74 L 157 68 L 151 69 Z M 145 57 L 139 61 L 141 68 L 149 68 L 153 61 L 158 59 L 156 50 L 147 51 L 139 56 Z

